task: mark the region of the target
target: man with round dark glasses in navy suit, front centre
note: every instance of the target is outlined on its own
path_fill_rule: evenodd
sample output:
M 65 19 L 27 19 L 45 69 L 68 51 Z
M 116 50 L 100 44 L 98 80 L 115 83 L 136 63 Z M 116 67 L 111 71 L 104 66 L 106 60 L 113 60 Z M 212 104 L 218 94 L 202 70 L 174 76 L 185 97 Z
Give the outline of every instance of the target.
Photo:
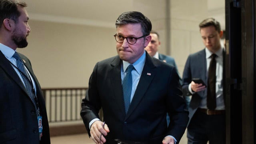
M 116 20 L 118 56 L 96 64 L 82 100 L 81 116 L 95 143 L 116 144 L 114 139 L 120 139 L 129 144 L 174 144 L 184 134 L 188 112 L 175 67 L 144 50 L 151 28 L 140 12 L 124 12 Z

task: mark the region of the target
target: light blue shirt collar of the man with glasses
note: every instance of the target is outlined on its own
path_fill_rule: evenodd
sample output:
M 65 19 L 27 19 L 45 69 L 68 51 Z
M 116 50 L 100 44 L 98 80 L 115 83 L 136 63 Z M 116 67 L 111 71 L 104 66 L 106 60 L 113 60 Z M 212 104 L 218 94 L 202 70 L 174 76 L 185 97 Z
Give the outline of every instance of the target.
M 146 52 L 144 51 L 144 53 L 142 54 L 142 56 L 136 60 L 136 62 L 134 62 L 132 65 L 134 66 L 135 70 L 138 72 L 138 74 L 141 75 L 144 64 L 146 61 Z M 130 65 L 129 62 L 126 62 L 123 60 L 123 73 L 125 72 L 126 68 Z

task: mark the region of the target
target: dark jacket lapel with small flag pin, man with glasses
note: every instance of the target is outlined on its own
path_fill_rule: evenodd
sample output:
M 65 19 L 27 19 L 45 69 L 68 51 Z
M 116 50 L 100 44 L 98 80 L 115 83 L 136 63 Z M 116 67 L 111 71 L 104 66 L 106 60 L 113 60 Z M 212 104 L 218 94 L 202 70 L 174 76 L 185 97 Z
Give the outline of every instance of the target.
M 156 66 L 153 64 L 153 59 L 146 52 L 146 62 L 145 62 L 144 68 L 142 70 L 142 74 L 140 76 L 138 86 L 137 86 L 134 96 L 132 98 L 132 102 L 130 104 L 130 108 L 125 117 L 125 120 L 132 114 L 132 112 L 138 106 L 141 99 L 143 98 L 146 91 L 148 90 L 148 87 L 151 84 L 151 82 L 154 78 L 154 75 L 155 75 L 155 69 L 154 69 L 155 67 Z

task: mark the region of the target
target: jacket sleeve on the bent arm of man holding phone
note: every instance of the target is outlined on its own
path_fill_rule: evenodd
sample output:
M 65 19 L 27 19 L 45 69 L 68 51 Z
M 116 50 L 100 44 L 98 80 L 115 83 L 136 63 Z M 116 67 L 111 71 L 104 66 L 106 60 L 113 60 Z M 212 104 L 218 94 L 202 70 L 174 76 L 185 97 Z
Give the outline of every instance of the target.
M 182 92 L 184 96 L 190 96 L 191 93 L 188 90 L 188 85 L 191 83 L 190 56 L 188 56 L 188 59 L 184 67 L 182 82 Z

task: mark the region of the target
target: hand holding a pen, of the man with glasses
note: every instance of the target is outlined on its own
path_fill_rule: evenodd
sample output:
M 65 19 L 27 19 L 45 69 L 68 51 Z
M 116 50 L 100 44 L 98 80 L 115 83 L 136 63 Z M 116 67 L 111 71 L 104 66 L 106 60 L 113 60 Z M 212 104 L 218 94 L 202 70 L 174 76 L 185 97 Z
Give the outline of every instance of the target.
M 94 123 L 92 123 L 92 126 L 91 126 L 90 134 L 91 134 L 92 140 L 96 144 L 104 144 L 106 142 L 106 139 L 104 138 L 104 136 L 108 134 L 109 129 L 107 124 L 105 124 L 104 128 L 102 125 L 103 125 L 103 122 L 97 120 Z M 104 136 L 100 137 L 101 134 Z

